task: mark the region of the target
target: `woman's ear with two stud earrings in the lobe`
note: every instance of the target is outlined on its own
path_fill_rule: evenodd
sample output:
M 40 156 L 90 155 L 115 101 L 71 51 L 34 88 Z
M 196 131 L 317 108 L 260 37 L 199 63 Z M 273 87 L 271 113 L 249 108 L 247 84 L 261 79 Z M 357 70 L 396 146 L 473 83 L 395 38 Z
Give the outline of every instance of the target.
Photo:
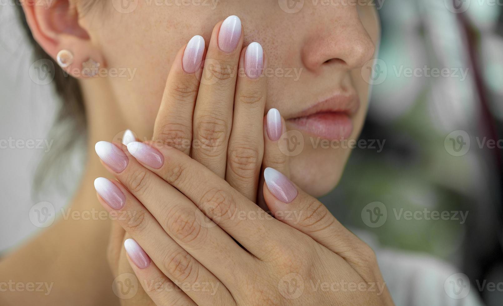
M 33 38 L 68 74 L 96 76 L 104 67 L 102 53 L 79 24 L 74 0 L 21 1 Z M 58 56 L 59 54 L 59 56 Z

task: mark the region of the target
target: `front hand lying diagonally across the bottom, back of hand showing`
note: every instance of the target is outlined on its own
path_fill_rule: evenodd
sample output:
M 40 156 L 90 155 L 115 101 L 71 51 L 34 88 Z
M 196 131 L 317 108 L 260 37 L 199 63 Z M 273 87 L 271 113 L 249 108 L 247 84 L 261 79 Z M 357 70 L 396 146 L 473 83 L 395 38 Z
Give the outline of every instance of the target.
M 148 284 L 170 280 L 192 305 L 392 304 L 372 250 L 278 171 L 265 170 L 274 219 L 176 149 L 133 142 L 122 150 L 107 160 L 134 157 L 120 173 L 104 163 L 120 183 L 99 179 L 99 199 L 126 212 L 129 260 L 157 305 L 173 294 Z

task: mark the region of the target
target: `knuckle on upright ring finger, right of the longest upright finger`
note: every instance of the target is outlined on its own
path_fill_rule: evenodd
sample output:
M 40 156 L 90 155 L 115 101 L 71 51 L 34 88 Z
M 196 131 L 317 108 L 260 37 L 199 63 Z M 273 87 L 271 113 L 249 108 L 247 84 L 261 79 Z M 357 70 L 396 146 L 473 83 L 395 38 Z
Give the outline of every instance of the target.
M 230 170 L 242 179 L 254 178 L 259 167 L 259 151 L 253 146 L 237 145 L 229 148 Z

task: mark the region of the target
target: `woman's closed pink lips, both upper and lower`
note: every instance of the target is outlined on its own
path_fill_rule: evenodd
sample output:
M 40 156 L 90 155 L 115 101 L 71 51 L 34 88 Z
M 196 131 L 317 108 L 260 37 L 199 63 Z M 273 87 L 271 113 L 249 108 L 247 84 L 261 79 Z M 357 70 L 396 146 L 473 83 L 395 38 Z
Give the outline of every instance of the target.
M 360 108 L 355 92 L 334 94 L 295 114 L 287 121 L 299 130 L 327 140 L 348 139 L 353 132 L 353 115 Z

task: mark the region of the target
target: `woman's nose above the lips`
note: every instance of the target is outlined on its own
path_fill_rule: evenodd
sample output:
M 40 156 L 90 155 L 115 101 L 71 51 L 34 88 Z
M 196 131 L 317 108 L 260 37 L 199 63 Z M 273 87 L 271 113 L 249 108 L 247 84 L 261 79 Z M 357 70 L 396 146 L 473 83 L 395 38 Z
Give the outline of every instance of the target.
M 348 70 L 362 67 L 372 59 L 375 45 L 357 10 L 347 8 L 330 15 L 309 29 L 302 48 L 303 64 L 314 72 L 336 62 Z

